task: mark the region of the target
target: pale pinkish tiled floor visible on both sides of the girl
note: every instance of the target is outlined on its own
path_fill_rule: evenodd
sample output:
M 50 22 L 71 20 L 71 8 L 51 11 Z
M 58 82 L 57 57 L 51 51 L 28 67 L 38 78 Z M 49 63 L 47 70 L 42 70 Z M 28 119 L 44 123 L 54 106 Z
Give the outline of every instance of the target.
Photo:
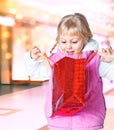
M 21 88 L 23 88 L 21 86 Z M 114 89 L 105 82 L 107 116 L 103 130 L 114 130 Z M 16 89 L 0 96 L 0 130 L 46 130 L 44 102 L 47 82 L 26 89 Z

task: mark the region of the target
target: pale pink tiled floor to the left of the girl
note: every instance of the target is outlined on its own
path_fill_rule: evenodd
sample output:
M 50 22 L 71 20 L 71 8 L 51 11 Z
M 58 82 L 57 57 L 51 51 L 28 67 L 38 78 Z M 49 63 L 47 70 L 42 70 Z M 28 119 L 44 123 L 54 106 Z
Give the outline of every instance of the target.
M 37 130 L 47 124 L 43 105 L 43 86 L 21 89 L 0 96 L 0 130 Z

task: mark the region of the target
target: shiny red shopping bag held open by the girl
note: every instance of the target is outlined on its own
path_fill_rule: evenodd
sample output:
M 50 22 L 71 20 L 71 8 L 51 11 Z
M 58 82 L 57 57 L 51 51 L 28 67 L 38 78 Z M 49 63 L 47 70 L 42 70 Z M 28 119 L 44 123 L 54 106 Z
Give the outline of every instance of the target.
M 64 57 L 53 69 L 53 115 L 71 116 L 80 111 L 84 103 L 86 59 Z

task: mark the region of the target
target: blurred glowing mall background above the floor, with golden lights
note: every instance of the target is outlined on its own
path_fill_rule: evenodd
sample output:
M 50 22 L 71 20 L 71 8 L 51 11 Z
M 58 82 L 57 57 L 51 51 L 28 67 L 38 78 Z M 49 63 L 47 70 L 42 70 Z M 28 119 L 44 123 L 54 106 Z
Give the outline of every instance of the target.
M 55 43 L 61 17 L 75 12 L 87 17 L 102 47 L 114 46 L 113 0 L 0 0 L 0 83 L 29 80 L 24 53 L 32 45 L 45 52 Z

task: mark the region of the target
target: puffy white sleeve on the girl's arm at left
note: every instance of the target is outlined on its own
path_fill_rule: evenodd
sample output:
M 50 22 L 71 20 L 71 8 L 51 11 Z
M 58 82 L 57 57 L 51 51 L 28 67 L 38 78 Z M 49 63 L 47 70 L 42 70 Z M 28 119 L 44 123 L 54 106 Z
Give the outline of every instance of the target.
M 24 55 L 24 65 L 31 80 L 49 80 L 51 69 L 47 59 L 33 60 L 28 51 Z

